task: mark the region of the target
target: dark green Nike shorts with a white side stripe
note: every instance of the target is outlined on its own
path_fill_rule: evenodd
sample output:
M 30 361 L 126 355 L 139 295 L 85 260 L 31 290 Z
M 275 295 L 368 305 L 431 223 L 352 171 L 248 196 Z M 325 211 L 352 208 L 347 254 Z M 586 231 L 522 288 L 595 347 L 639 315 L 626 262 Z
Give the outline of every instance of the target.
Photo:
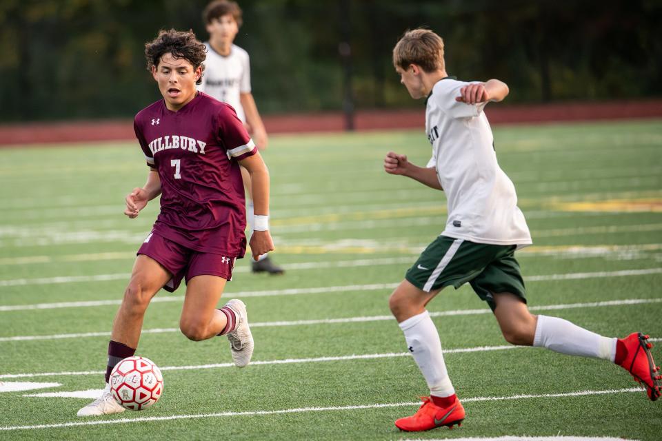
M 489 245 L 439 236 L 428 245 L 405 278 L 412 285 L 430 292 L 453 285 L 470 283 L 476 294 L 494 310 L 492 294 L 510 292 L 526 302 L 526 289 L 516 245 Z

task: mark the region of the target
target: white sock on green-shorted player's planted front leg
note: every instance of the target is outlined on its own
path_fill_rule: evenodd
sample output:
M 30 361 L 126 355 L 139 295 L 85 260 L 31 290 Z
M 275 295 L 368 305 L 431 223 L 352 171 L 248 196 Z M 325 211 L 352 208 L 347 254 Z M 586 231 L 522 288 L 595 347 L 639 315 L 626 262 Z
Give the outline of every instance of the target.
M 425 381 L 430 387 L 430 395 L 448 397 L 455 393 L 448 378 L 446 364 L 441 353 L 439 332 L 434 327 L 428 311 L 413 316 L 400 323 L 400 329 L 405 334 L 409 351 L 416 364 L 419 365 Z

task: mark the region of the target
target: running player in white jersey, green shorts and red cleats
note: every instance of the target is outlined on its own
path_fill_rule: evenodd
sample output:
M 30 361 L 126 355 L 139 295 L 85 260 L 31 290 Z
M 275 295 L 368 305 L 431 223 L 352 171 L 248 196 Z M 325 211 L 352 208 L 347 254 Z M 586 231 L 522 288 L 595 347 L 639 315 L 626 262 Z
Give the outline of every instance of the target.
M 488 302 L 508 342 L 610 360 L 629 371 L 650 400 L 659 398 L 662 377 L 656 372 L 659 368 L 652 360 L 648 336 L 607 338 L 528 310 L 514 252 L 530 245 L 531 237 L 516 205 L 514 186 L 496 162 L 492 130 L 483 113 L 487 103 L 508 95 L 508 86 L 496 79 L 467 83 L 448 76 L 443 40 L 425 29 L 403 35 L 393 50 L 393 64 L 412 98 L 427 98 L 425 132 L 432 158 L 426 167 L 419 167 L 403 154 L 388 152 L 385 172 L 443 190 L 448 200 L 444 231 L 423 251 L 389 299 L 430 388 L 419 410 L 395 425 L 405 431 L 423 431 L 452 428 L 464 420 L 465 410 L 448 376 L 439 333 L 425 305 L 443 287 L 458 288 L 467 282 Z

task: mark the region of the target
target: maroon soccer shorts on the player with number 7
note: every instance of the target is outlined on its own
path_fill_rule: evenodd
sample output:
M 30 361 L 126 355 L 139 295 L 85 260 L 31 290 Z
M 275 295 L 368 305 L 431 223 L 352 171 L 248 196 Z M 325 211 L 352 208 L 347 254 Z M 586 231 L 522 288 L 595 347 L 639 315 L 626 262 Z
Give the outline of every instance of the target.
M 174 292 L 182 278 L 186 283 L 203 275 L 232 280 L 234 257 L 197 252 L 156 233 L 147 236 L 137 254 L 150 256 L 170 271 L 172 279 L 163 287 L 166 291 Z

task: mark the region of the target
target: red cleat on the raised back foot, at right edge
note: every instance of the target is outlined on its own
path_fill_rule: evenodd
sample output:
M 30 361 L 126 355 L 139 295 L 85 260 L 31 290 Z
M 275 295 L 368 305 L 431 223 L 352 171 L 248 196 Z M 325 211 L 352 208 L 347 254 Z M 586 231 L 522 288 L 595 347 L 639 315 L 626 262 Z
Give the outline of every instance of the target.
M 648 336 L 644 336 L 641 332 L 634 332 L 625 338 L 619 338 L 619 341 L 627 349 L 625 358 L 619 365 L 630 372 L 636 382 L 646 388 L 646 393 L 651 401 L 660 398 L 662 386 L 659 380 L 662 380 L 662 376 L 659 374 L 660 368 L 655 366 L 653 356 L 650 354 L 650 348 L 653 345 L 648 342 Z

